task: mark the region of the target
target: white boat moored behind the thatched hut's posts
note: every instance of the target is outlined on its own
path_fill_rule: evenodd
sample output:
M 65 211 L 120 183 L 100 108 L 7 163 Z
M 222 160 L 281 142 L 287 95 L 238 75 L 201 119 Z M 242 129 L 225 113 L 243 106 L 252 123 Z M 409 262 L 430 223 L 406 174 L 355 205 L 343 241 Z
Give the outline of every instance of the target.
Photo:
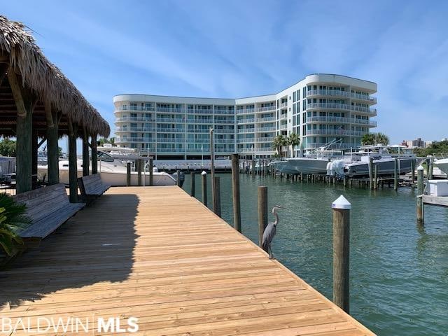
M 78 177 L 83 176 L 83 160 L 77 160 Z M 38 179 L 46 181 L 48 172 L 47 165 L 38 165 Z M 113 158 L 108 153 L 98 152 L 98 172 L 104 183 L 111 186 L 127 186 L 127 167 L 118 158 Z M 142 172 L 142 183 L 149 186 L 149 172 Z M 59 182 L 69 184 L 69 161 L 59 161 Z M 131 186 L 138 185 L 138 173 L 131 172 Z M 158 172 L 157 168 L 153 169 L 153 185 L 154 186 L 175 186 L 176 177 L 166 172 Z

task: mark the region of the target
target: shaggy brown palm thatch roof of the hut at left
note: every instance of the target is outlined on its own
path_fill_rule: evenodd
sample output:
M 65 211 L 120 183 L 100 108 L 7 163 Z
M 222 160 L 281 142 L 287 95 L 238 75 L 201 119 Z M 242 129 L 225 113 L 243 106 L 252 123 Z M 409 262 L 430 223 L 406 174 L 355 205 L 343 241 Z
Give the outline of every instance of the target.
M 37 115 L 39 111 L 43 111 L 43 102 L 50 102 L 52 109 L 62 113 L 62 125 L 67 122 L 67 118 L 70 118 L 80 126 L 86 127 L 89 134 L 109 136 L 109 123 L 87 102 L 62 71 L 43 55 L 27 27 L 21 22 L 10 21 L 1 15 L 0 63 L 9 64 L 20 76 L 22 86 L 36 94 L 39 101 L 35 108 Z M 8 99 L 7 82 L 6 76 L 0 80 L 0 95 L 3 97 L 3 102 Z M 3 104 L 3 109 L 0 104 L 0 114 L 3 111 L 11 112 L 10 103 Z M 41 118 L 41 125 L 42 123 L 45 124 L 45 118 Z

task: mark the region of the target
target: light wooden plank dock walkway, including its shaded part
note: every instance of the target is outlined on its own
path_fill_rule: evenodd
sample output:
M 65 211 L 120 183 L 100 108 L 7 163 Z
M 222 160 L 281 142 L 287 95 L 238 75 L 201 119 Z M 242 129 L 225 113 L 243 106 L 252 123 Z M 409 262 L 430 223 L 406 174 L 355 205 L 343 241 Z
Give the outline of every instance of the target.
M 177 187 L 111 188 L 0 288 L 0 316 L 32 328 L 134 316 L 137 335 L 374 335 Z

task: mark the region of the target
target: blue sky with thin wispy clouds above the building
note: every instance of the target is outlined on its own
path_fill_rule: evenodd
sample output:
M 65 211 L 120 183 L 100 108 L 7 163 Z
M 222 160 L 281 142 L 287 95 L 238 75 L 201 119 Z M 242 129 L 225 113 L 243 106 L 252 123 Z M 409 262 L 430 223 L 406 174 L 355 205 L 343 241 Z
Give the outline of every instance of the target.
M 121 93 L 247 97 L 308 73 L 378 84 L 377 132 L 448 137 L 447 1 L 3 1 L 113 130 Z

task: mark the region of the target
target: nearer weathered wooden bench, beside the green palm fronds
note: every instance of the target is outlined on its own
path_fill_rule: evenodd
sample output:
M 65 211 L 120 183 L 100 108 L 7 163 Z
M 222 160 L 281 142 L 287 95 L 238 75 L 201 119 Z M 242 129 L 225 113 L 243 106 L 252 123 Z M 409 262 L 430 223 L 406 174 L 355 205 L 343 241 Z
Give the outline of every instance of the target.
M 15 195 L 14 200 L 27 205 L 26 215 L 32 223 L 18 233 L 31 244 L 40 242 L 85 207 L 84 203 L 69 202 L 62 183 Z

